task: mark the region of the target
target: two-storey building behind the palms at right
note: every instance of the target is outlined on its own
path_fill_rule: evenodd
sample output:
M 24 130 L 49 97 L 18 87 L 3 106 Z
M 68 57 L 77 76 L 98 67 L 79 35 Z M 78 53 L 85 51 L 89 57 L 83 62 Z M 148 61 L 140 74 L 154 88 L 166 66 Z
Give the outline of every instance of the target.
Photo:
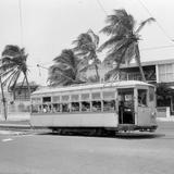
M 141 62 L 142 70 L 145 73 L 146 80 L 153 85 L 165 84 L 169 88 L 174 89 L 174 59 L 171 60 L 160 60 L 160 61 L 148 61 Z M 112 70 L 114 66 L 111 65 L 100 65 L 99 72 L 101 80 L 104 80 L 104 75 L 108 71 Z M 87 76 L 94 75 L 96 72 L 90 69 Z M 117 80 L 141 80 L 141 75 L 139 67 L 136 63 L 122 64 L 120 67 L 120 74 Z M 173 92 L 174 94 L 174 92 Z M 174 115 L 174 95 L 172 95 L 166 102 L 162 103 L 164 105 L 159 105 L 160 98 L 157 97 L 158 107 L 170 107 L 171 114 Z

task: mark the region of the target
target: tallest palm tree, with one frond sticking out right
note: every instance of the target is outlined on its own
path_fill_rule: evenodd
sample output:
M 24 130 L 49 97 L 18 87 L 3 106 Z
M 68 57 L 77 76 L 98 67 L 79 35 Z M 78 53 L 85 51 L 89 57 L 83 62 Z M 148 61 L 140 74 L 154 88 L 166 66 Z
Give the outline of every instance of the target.
M 153 17 L 147 18 L 136 27 L 133 15 L 128 14 L 124 9 L 114 10 L 112 15 L 108 15 L 108 25 L 101 29 L 101 33 L 110 36 L 110 38 L 100 46 L 99 51 L 107 48 L 108 55 L 104 59 L 104 63 L 116 63 L 116 67 L 109 72 L 109 76 L 117 75 L 120 65 L 129 63 L 134 58 L 139 66 L 142 80 L 146 80 L 140 63 L 139 32 L 147 23 L 154 21 Z

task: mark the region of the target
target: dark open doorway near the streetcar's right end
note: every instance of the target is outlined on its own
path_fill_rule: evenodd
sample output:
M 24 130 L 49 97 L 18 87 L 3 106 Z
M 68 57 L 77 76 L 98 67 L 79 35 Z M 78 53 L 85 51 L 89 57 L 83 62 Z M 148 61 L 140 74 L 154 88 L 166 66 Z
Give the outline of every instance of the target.
M 119 124 L 135 124 L 134 88 L 117 89 Z

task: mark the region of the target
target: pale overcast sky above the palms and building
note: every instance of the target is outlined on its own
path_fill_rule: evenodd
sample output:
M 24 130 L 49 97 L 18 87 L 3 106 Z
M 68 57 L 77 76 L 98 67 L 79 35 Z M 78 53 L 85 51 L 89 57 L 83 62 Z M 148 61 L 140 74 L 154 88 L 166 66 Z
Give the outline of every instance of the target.
M 21 7 L 21 8 L 20 8 Z M 28 53 L 29 80 L 46 85 L 47 69 L 63 49 L 89 28 L 100 37 L 107 15 L 125 9 L 138 24 L 154 17 L 140 32 L 141 61 L 174 59 L 173 0 L 0 0 L 0 52 L 7 45 L 24 47 Z M 102 60 L 103 54 L 99 54 Z

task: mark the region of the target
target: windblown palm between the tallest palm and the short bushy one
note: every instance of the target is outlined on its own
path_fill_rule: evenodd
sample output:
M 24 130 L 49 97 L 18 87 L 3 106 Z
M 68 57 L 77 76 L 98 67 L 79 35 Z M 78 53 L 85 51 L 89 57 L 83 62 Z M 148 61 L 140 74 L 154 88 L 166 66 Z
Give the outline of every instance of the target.
M 97 80 L 99 80 L 100 75 L 98 64 L 101 63 L 97 57 L 99 36 L 89 29 L 87 33 L 80 34 L 77 39 L 73 41 L 73 44 L 75 45 L 73 50 L 76 55 L 83 58 L 83 60 L 87 63 L 87 66 L 95 66 Z

